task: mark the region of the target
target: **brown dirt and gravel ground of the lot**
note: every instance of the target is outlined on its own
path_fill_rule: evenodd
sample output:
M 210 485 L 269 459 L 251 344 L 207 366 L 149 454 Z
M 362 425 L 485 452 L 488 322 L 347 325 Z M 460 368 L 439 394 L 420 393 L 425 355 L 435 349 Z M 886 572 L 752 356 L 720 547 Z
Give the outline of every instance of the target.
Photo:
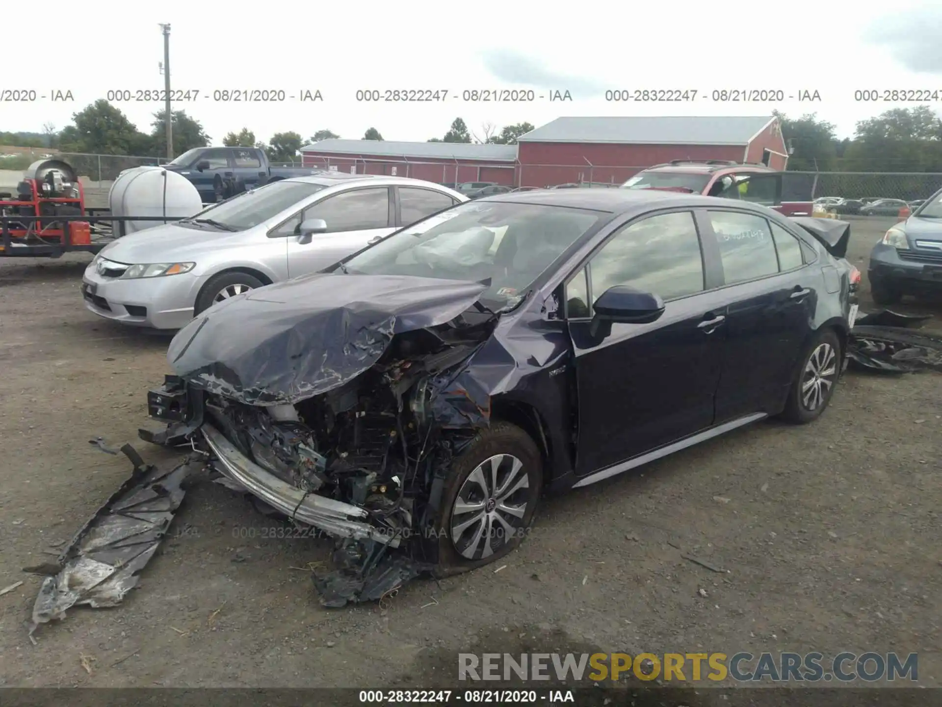
M 861 270 L 884 227 L 855 224 Z M 760 423 L 545 501 L 499 571 L 416 581 L 382 605 L 322 608 L 300 568 L 326 544 L 262 538 L 272 521 L 196 485 L 122 606 L 74 609 L 33 646 L 24 622 L 40 579 L 21 568 L 53 559 L 127 477 L 126 460 L 89 439 L 137 440 L 145 391 L 167 370 L 167 337 L 86 311 L 88 259 L 0 263 L 0 587 L 24 581 L 0 596 L 0 684 L 423 687 L 453 680 L 459 649 L 524 643 L 919 651 L 919 682 L 942 680 L 942 376 L 931 373 L 849 373 L 811 425 Z M 174 458 L 137 446 L 152 463 Z

